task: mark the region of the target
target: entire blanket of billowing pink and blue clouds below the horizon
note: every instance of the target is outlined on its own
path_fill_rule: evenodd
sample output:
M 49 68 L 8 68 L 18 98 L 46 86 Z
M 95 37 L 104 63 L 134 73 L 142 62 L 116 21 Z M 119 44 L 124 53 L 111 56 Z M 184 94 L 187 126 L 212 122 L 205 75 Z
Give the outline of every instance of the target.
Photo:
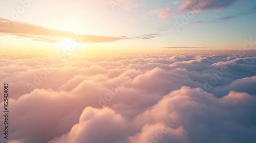
M 256 142 L 253 56 L 0 55 L 6 82 L 8 143 Z

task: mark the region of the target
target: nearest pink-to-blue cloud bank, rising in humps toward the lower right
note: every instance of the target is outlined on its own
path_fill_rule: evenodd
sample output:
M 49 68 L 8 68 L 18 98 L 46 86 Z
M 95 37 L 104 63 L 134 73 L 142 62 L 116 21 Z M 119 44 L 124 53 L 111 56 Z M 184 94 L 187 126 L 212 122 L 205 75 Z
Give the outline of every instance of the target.
M 242 111 L 247 110 L 256 102 L 255 98 L 249 94 L 234 91 L 220 99 L 207 92 L 203 94 L 204 101 L 199 98 L 197 89 L 184 86 L 170 92 L 133 120 L 126 120 L 109 107 L 102 109 L 87 107 L 83 110 L 79 123 L 60 138 L 64 137 L 69 142 L 81 143 L 102 142 L 103 139 L 105 142 L 143 143 L 157 140 L 157 142 L 188 143 L 207 141 L 207 137 L 228 141 L 229 136 L 223 138 L 215 137 L 215 135 L 221 133 L 223 128 L 231 132 L 231 129 L 228 129 L 230 125 L 225 124 L 225 121 L 240 120 L 244 114 Z M 230 109 L 235 114 L 229 113 Z M 253 113 L 253 109 L 247 111 Z M 215 121 L 215 125 L 207 123 L 212 120 Z M 172 126 L 166 126 L 168 124 L 165 123 L 172 123 Z M 234 122 L 232 124 L 234 129 L 239 129 L 242 123 Z M 198 134 L 193 132 L 195 129 L 198 130 Z M 155 134 L 160 131 L 162 131 L 161 137 L 154 138 Z M 250 129 L 247 128 L 244 131 L 248 132 Z M 201 136 L 202 134 L 204 136 Z M 54 142 L 56 142 L 56 138 L 49 143 Z

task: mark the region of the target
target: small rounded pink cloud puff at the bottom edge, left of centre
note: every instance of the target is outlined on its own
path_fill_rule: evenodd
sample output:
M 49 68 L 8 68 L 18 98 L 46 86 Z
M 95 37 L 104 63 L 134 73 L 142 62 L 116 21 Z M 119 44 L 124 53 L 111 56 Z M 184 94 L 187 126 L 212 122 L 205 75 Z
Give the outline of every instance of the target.
M 79 123 L 63 137 L 69 142 L 120 142 L 122 138 L 132 134 L 135 127 L 132 122 L 108 107 L 102 109 L 87 107 L 83 110 Z M 49 141 L 49 143 L 53 142 L 54 139 Z

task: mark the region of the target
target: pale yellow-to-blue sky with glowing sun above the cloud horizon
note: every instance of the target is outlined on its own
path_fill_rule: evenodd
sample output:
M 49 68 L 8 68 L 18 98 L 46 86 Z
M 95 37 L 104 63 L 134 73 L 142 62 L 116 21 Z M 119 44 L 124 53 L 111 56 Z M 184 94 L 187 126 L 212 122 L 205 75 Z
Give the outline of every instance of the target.
M 86 39 L 79 52 L 238 50 L 245 39 L 256 39 L 253 0 L 208 0 L 204 5 L 199 0 L 119 2 L 0 1 L 0 52 L 58 51 L 74 40 L 70 33 Z M 189 6 L 196 5 L 202 6 L 200 11 L 187 24 L 182 23 L 182 14 L 187 15 Z M 178 30 L 177 22 L 184 27 Z

